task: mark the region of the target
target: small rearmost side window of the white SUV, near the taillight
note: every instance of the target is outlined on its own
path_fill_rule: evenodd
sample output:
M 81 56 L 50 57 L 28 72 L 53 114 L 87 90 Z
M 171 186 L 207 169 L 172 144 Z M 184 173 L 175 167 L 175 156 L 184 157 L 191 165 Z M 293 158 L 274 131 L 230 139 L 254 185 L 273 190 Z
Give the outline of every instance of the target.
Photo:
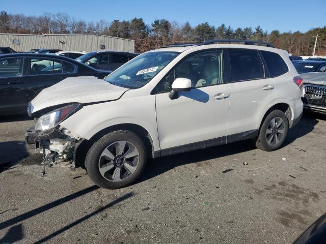
M 260 51 L 263 55 L 269 75 L 271 77 L 282 75 L 289 71 L 287 65 L 285 64 L 283 58 L 275 52 Z

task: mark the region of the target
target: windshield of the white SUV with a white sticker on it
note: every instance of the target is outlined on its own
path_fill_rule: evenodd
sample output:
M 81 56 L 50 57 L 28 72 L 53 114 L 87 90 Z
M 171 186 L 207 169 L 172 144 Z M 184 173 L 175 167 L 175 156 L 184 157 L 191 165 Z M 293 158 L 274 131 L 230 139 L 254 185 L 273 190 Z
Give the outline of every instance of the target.
M 130 89 L 142 87 L 178 55 L 179 52 L 143 53 L 134 57 L 104 80 Z

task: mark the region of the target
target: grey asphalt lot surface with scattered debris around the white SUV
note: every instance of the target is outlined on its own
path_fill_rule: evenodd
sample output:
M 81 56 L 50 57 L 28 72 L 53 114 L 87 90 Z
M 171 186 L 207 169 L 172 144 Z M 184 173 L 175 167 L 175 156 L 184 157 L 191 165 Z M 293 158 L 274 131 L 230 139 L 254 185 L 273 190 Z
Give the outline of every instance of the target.
M 0 243 L 291 243 L 326 212 L 325 116 L 305 115 L 274 152 L 247 140 L 150 160 L 119 190 L 83 169 L 42 176 L 23 142 L 33 124 L 0 120 Z

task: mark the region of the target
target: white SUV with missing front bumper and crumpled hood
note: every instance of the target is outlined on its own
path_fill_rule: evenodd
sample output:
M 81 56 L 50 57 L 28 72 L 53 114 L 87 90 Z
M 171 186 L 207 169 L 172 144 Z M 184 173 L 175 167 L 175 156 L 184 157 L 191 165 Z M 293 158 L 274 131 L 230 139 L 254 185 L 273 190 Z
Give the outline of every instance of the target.
M 278 149 L 302 116 L 302 84 L 288 53 L 269 43 L 169 45 L 103 80 L 45 88 L 30 103 L 38 120 L 26 139 L 36 140 L 45 163 L 85 167 L 99 187 L 121 188 L 148 157 L 248 138 Z

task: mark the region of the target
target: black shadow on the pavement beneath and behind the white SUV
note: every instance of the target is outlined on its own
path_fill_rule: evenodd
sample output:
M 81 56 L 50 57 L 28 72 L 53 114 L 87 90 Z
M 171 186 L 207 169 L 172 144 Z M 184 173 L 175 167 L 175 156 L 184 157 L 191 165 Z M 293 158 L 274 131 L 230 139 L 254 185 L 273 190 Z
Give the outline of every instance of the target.
M 300 122 L 294 128 L 289 130 L 283 147 L 292 143 L 297 138 L 311 133 L 317 124 L 318 120 L 316 119 L 316 114 L 305 114 Z M 225 156 L 243 153 L 244 151 L 251 151 L 254 149 L 256 149 L 256 146 L 254 145 L 253 140 L 249 139 L 226 145 L 189 151 L 188 153 L 150 159 L 139 181 L 141 182 L 153 178 L 177 166 L 217 159 Z

